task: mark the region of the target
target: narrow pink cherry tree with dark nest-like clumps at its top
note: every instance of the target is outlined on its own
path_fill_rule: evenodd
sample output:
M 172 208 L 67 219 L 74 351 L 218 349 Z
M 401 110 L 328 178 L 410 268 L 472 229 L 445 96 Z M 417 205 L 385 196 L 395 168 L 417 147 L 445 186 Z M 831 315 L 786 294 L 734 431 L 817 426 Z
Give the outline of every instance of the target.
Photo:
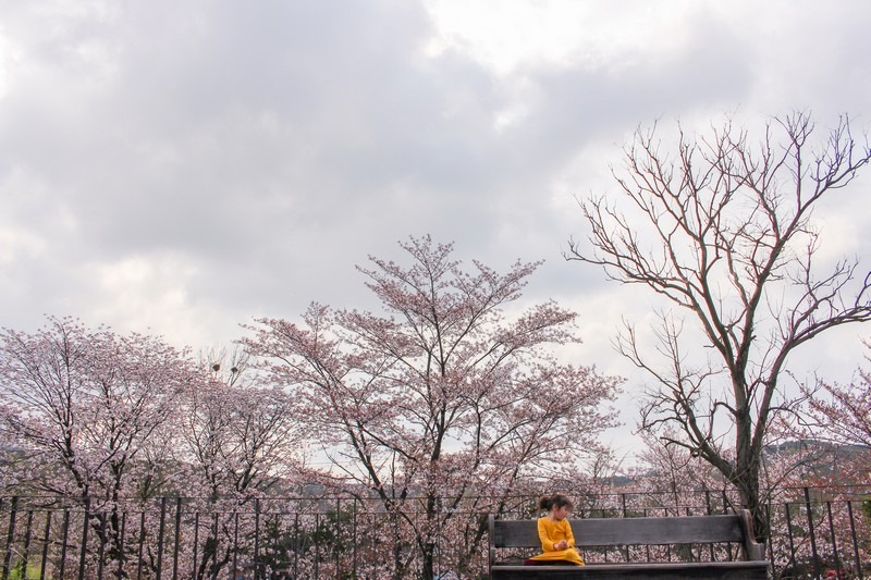
M 192 499 L 204 511 L 220 514 L 203 534 L 197 578 L 213 578 L 231 562 L 234 513 L 252 511 L 253 501 L 281 491 L 300 469 L 295 403 L 280 388 L 261 386 L 247 360 L 238 350 L 207 354 L 200 360 L 206 380 L 180 402 L 175 453 L 184 467 L 177 479 L 188 494 L 201 495 Z M 243 539 L 253 533 L 241 532 Z

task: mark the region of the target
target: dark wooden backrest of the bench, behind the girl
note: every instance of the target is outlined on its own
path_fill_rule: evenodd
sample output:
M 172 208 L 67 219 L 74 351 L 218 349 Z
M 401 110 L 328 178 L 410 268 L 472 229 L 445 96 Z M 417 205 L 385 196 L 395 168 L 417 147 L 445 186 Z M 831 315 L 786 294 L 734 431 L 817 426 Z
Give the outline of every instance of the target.
M 723 516 L 569 519 L 569 523 L 578 547 L 735 542 L 745 547 L 749 559 L 762 558 L 759 547 L 755 547 L 759 544 L 752 538 L 747 510 Z M 490 516 L 490 545 L 540 547 L 536 520 L 500 520 Z

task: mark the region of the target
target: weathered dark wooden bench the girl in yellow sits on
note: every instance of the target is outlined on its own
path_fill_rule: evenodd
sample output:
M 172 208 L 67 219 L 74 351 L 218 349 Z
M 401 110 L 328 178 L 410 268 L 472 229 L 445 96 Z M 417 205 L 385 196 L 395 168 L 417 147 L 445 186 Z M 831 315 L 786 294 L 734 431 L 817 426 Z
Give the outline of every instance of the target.
M 490 578 L 577 579 L 577 578 L 727 578 L 766 579 L 769 565 L 764 546 L 756 542 L 752 520 L 746 509 L 736 515 L 682 516 L 664 518 L 588 518 L 571 519 L 575 546 L 584 548 L 628 550 L 630 546 L 675 546 L 725 544 L 732 559 L 720 562 L 588 562 L 587 566 L 529 566 L 523 559 L 500 562 L 496 550 L 526 548 L 540 553 L 536 520 L 503 520 L 490 516 Z M 732 550 L 737 547 L 738 550 Z M 530 550 L 535 548 L 535 550 Z M 614 552 L 612 550 L 612 552 Z M 686 552 L 686 551 L 685 551 Z M 701 552 L 696 550 L 697 553 Z M 733 555 L 737 552 L 737 557 Z M 711 552 L 713 553 L 713 552 Z M 628 553 L 625 553 L 628 554 Z

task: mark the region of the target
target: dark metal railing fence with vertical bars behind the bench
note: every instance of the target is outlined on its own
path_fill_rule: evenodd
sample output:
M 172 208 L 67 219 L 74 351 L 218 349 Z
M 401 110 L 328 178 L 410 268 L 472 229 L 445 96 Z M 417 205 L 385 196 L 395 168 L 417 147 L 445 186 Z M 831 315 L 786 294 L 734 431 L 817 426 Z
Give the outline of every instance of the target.
M 573 517 L 580 518 L 717 514 L 736 506 L 729 493 L 707 490 L 575 497 Z M 773 578 L 871 577 L 869 498 L 871 489 L 855 486 L 780 491 L 768 510 Z M 469 497 L 439 502 L 433 510 L 431 502 L 407 498 L 391 511 L 353 497 L 161 497 L 101 505 L 0 497 L 0 580 L 375 580 L 422 578 L 424 568 L 439 579 L 482 579 L 487 515 L 532 517 L 535 504 L 529 496 Z M 445 505 L 455 507 L 447 514 Z M 713 556 L 706 550 L 668 550 L 667 557 Z M 588 562 L 633 557 L 619 550 L 584 555 Z

